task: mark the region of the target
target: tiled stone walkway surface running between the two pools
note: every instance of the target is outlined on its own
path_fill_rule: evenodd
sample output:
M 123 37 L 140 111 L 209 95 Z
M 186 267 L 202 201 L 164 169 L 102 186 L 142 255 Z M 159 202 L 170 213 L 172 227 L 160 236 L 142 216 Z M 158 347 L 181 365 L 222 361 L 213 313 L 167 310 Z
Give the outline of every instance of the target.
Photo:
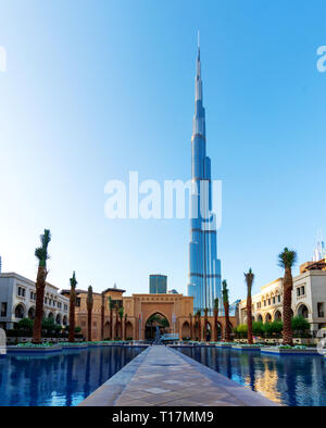
M 115 406 L 276 405 L 178 351 L 149 349 Z

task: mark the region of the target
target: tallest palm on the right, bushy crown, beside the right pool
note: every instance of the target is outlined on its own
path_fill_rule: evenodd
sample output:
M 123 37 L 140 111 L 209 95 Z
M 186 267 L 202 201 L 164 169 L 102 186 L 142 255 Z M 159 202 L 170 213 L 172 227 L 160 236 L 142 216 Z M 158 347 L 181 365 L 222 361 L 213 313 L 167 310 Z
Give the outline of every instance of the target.
M 297 252 L 285 248 L 278 255 L 278 265 L 285 269 L 283 282 L 283 343 L 293 345 L 292 328 L 291 328 L 291 306 L 292 306 L 292 267 L 297 262 Z

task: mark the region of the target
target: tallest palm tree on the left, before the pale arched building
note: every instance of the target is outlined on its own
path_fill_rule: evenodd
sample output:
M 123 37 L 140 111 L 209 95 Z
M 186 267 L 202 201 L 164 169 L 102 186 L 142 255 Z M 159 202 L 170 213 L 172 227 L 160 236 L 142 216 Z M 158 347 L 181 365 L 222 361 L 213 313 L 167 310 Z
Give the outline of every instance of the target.
M 33 343 L 41 342 L 43 300 L 46 279 L 48 276 L 47 260 L 49 259 L 48 246 L 51 241 L 50 230 L 45 229 L 45 234 L 40 236 L 41 247 L 35 250 L 35 256 L 38 259 L 38 270 L 36 278 L 36 310 L 33 327 Z

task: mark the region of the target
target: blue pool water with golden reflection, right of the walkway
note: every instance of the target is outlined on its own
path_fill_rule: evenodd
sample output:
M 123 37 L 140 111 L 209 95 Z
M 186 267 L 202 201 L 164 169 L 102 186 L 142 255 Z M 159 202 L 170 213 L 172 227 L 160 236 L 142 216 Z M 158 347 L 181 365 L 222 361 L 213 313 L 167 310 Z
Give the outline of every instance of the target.
M 218 348 L 178 350 L 277 403 L 326 405 L 326 358 L 319 355 L 272 355 Z

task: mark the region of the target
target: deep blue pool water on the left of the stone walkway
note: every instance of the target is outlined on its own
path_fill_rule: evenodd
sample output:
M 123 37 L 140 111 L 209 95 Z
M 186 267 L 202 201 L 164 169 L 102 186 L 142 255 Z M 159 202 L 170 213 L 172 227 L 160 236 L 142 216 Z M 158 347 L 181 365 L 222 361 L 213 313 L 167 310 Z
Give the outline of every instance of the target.
M 0 405 L 73 406 L 142 351 L 99 347 L 0 357 Z

